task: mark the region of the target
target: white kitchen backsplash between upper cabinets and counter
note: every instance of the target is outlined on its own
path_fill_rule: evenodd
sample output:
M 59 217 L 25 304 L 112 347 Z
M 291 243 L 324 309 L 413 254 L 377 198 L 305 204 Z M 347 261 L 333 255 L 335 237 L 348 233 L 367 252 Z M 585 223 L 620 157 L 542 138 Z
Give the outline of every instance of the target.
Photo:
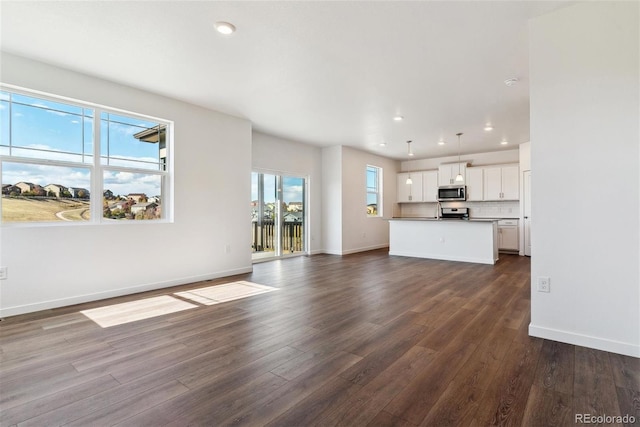
M 467 207 L 471 218 L 519 218 L 520 203 L 511 202 L 444 202 L 443 207 Z M 398 203 L 394 217 L 435 217 L 436 203 Z

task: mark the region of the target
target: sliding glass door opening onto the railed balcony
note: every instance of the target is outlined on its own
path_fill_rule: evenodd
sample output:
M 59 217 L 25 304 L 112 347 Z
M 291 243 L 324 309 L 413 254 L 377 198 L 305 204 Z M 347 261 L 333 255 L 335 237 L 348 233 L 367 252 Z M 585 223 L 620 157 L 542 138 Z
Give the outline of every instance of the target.
M 305 181 L 294 176 L 251 174 L 254 261 L 306 253 Z

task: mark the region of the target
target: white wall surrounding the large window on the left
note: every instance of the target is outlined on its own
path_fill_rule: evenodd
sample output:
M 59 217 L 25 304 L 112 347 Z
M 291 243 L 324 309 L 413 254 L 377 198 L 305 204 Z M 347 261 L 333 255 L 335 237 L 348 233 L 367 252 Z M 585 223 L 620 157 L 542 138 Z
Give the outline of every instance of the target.
M 250 122 L 13 55 L 1 60 L 3 83 L 175 122 L 175 222 L 0 228 L 0 265 L 9 268 L 1 316 L 251 271 Z

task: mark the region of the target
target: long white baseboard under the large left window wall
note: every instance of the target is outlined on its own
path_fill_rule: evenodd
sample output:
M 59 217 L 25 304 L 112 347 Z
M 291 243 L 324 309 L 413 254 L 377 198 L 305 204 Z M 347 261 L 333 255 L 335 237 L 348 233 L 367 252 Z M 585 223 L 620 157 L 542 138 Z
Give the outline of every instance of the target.
M 203 274 L 199 276 L 181 277 L 179 279 L 167 280 L 164 282 L 146 283 L 144 285 L 130 286 L 127 288 L 113 289 L 110 291 L 96 292 L 93 294 L 77 295 L 68 298 L 61 298 L 50 301 L 42 301 L 34 304 L 25 304 L 14 307 L 5 307 L 0 309 L 0 318 L 17 316 L 19 314 L 33 313 L 36 311 L 50 310 L 52 308 L 67 307 L 85 302 L 98 301 L 106 298 L 119 297 L 122 295 L 131 295 L 139 292 L 153 291 L 156 289 L 170 288 L 171 286 L 186 285 L 188 283 L 201 282 L 204 280 L 218 279 L 220 277 L 234 276 L 236 274 L 251 273 L 253 267 L 243 267 L 233 270 L 219 271 L 211 274 Z

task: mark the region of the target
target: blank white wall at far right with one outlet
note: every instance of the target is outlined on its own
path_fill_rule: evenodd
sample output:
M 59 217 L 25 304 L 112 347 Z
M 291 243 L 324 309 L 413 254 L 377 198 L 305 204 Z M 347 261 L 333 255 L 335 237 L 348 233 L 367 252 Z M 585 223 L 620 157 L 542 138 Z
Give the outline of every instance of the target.
M 531 23 L 530 334 L 640 357 L 639 5 Z M 539 276 L 551 292 L 535 291 Z

